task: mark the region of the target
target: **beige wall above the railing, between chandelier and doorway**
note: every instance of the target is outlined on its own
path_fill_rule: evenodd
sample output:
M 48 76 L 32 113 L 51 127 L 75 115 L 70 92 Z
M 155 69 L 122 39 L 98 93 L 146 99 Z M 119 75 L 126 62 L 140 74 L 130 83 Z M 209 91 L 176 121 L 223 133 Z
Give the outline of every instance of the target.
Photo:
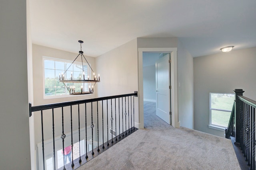
M 96 72 L 100 73 L 100 83 L 96 87 L 98 97 L 138 91 L 136 39 L 96 57 L 95 62 Z M 138 98 L 135 97 L 134 100 L 135 122 L 138 123 Z

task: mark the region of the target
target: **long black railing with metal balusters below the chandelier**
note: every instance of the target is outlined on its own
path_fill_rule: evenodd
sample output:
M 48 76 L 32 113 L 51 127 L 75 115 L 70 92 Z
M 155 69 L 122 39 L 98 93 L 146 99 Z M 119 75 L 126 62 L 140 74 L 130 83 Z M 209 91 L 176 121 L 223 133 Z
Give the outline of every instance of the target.
M 42 160 L 38 160 L 38 169 L 48 169 L 46 168 L 47 162 L 45 159 L 46 154 L 49 155 L 49 153 L 45 153 L 47 149 L 51 150 L 50 155 L 53 160 L 50 169 L 56 170 L 58 169 L 56 148 L 61 149 L 64 153 L 66 147 L 72 146 L 72 159 L 70 163 L 66 164 L 65 156 L 63 156 L 63 161 L 61 161 L 62 167 L 59 169 L 73 170 L 104 152 L 131 133 L 134 133 L 134 131 L 137 130 L 134 125 L 134 96 L 137 97 L 137 94 L 138 92 L 134 92 L 132 94 L 33 107 L 29 104 L 30 116 L 32 116 L 32 113 L 40 114 L 41 116 L 42 143 L 40 144 L 40 148 L 42 152 L 40 151 L 40 153 L 42 153 L 42 155 L 39 155 L 38 150 L 38 157 L 40 156 Z M 48 122 L 45 122 L 45 119 L 48 120 Z M 49 120 L 51 122 L 49 122 Z M 74 127 L 78 127 L 78 129 L 74 129 Z M 69 130 L 67 130 L 67 128 Z M 50 132 L 49 129 L 51 129 L 52 132 Z M 57 133 L 59 135 L 56 135 Z M 52 136 L 51 139 L 48 140 L 50 141 L 50 146 L 48 145 L 48 141 L 48 143 L 46 143 L 44 135 Z M 89 136 L 90 139 L 88 139 Z M 74 159 L 73 156 L 75 139 L 79 142 L 79 157 L 77 159 Z M 81 150 L 81 140 L 84 140 L 86 143 L 84 150 Z M 92 146 L 90 151 L 87 147 L 88 143 Z M 84 155 L 81 154 L 82 152 Z

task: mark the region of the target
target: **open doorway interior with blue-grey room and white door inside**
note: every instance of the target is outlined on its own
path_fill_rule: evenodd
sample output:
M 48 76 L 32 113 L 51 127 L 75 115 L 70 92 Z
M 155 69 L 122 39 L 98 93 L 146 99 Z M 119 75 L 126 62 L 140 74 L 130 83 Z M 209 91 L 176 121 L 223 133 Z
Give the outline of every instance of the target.
M 170 53 L 143 53 L 144 123 L 146 113 L 171 125 Z M 153 113 L 154 112 L 154 113 Z

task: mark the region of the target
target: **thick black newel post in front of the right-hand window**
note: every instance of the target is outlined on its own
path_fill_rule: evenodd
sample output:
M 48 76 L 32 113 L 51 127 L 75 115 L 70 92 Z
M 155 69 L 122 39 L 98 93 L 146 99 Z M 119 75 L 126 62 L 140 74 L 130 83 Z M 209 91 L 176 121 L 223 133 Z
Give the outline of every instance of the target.
M 235 89 L 234 92 L 236 93 L 235 96 L 235 140 L 236 143 L 240 143 L 240 134 L 241 134 L 241 130 L 242 130 L 242 117 L 243 117 L 243 113 L 242 113 L 242 102 L 241 100 L 238 98 L 238 96 L 243 96 L 243 89 Z

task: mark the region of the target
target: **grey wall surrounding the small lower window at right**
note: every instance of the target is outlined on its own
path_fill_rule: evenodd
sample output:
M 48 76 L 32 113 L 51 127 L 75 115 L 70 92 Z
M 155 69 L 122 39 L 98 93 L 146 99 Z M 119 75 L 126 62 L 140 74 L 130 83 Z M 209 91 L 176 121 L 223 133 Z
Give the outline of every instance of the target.
M 224 137 L 224 131 L 208 128 L 209 93 L 233 93 L 256 100 L 256 47 L 194 58 L 194 128 Z

